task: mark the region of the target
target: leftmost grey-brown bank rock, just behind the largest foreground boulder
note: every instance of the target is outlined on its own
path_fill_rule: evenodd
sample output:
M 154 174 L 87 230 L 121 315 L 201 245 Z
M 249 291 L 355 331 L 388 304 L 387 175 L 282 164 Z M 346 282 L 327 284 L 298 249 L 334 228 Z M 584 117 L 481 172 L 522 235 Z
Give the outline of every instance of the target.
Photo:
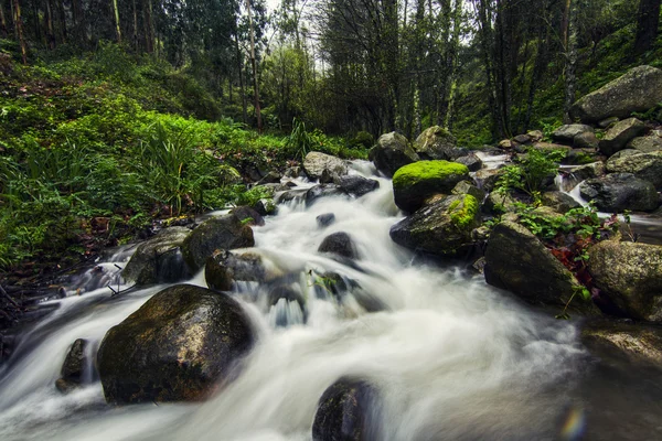
M 181 247 L 191 234 L 185 227 L 170 227 L 142 243 L 131 256 L 121 277 L 137 286 L 171 283 L 190 277 Z

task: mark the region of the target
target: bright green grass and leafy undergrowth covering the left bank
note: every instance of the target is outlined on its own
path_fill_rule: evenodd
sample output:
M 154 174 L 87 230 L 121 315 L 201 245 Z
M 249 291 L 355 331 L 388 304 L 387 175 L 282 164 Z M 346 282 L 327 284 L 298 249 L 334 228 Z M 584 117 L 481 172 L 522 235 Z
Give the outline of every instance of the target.
M 193 78 L 114 44 L 9 67 L 0 74 L 4 269 L 75 260 L 130 240 L 154 218 L 270 198 L 265 187 L 246 191 L 242 174 L 284 171 L 300 159 L 290 137 L 218 118 Z M 308 137 L 319 151 L 366 154 L 319 131 Z

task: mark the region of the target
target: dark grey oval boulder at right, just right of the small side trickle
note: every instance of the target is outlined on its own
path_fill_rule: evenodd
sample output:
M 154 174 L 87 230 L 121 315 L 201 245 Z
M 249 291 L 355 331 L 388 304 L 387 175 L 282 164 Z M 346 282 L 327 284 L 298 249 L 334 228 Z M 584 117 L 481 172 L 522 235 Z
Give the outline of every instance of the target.
M 655 186 L 632 173 L 612 173 L 589 179 L 579 185 L 579 194 L 594 201 L 601 212 L 622 213 L 626 209 L 652 212 L 660 205 Z

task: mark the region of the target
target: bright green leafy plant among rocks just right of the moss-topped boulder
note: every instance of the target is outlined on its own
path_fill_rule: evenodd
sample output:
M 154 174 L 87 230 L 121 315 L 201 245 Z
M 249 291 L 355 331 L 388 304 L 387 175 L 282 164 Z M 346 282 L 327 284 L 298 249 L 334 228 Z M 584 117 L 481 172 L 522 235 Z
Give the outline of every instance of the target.
M 515 164 L 502 169 L 496 183 L 498 191 L 512 192 L 519 190 L 536 198 L 536 195 L 540 196 L 540 192 L 543 190 L 544 180 L 556 175 L 558 162 L 565 154 L 564 150 L 528 149 L 523 159 L 519 159 Z

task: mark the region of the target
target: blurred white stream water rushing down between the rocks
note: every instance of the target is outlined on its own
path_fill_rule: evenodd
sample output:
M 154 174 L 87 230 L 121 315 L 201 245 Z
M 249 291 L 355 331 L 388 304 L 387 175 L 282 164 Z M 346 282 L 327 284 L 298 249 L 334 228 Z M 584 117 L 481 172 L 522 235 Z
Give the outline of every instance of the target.
M 61 395 L 54 381 L 71 344 L 98 344 L 164 286 L 115 298 L 100 288 L 58 301 L 0 372 L 0 440 L 310 440 L 320 396 L 348 375 L 378 388 L 381 440 L 583 439 L 586 412 L 602 415 L 618 375 L 601 383 L 573 323 L 531 310 L 482 277 L 395 245 L 388 229 L 403 215 L 391 182 L 374 176 L 367 163 L 352 172 L 378 179 L 380 190 L 359 200 L 321 198 L 310 207 L 293 201 L 254 228 L 253 251 L 271 272 L 290 275 L 306 306 L 281 300 L 269 309 L 263 288 L 237 283 L 232 294 L 258 343 L 216 396 L 203 404 L 114 408 L 98 381 Z M 316 217 L 324 213 L 334 213 L 337 222 L 321 229 Z M 334 232 L 351 235 L 355 262 L 316 251 Z M 327 271 L 360 288 L 338 301 L 320 289 L 318 276 Z M 205 286 L 204 275 L 189 283 Z M 378 311 L 366 312 L 366 304 Z M 586 392 L 587 385 L 600 394 Z M 662 394 L 653 387 L 616 390 L 630 400 L 621 409 L 616 399 L 610 411 L 637 412 L 645 423 L 623 432 L 618 419 L 596 419 L 599 427 L 589 426 L 585 439 L 621 432 L 620 439 L 659 439 L 655 404 Z M 627 390 L 637 390 L 637 399 Z

